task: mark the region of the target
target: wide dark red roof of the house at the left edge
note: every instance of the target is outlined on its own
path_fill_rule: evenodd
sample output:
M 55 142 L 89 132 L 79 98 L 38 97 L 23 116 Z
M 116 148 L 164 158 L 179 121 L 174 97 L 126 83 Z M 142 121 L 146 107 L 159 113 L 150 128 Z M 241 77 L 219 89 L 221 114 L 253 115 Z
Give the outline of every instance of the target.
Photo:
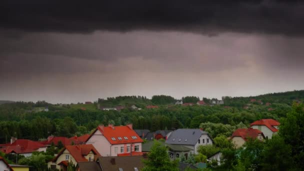
M 5 144 L 5 147 L 2 147 L 0 151 L 8 154 L 11 152 L 14 153 L 31 153 L 33 151 L 36 151 L 40 147 L 46 147 L 46 145 L 41 144 L 37 141 L 32 141 L 28 139 L 17 139 L 13 143 L 7 143 Z

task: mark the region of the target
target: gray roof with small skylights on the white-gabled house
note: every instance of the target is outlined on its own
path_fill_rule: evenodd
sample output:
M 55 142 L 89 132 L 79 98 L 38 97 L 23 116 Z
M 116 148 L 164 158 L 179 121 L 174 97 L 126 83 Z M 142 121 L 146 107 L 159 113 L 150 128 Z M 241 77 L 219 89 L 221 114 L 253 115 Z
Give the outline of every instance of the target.
M 195 145 L 202 134 L 208 134 L 208 132 L 200 129 L 176 129 L 171 132 L 165 143 Z

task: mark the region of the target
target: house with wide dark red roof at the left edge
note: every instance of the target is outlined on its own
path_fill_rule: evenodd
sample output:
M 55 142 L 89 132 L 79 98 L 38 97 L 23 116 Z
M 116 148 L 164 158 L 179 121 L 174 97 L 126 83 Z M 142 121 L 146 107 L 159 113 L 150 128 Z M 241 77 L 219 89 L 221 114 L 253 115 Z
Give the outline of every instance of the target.
M 2 144 L 1 146 L 0 151 L 5 154 L 13 153 L 24 155 L 25 157 L 31 156 L 33 151 L 46 152 L 46 145 L 28 139 L 11 139 L 10 143 Z

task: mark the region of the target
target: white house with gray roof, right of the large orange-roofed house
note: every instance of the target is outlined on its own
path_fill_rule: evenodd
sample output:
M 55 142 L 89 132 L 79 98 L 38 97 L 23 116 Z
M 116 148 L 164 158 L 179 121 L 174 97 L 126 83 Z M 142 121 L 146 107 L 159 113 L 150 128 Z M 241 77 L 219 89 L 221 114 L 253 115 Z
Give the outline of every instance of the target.
M 165 143 L 184 145 L 196 154 L 199 145 L 213 144 L 213 140 L 208 132 L 201 129 L 176 129 L 171 132 Z

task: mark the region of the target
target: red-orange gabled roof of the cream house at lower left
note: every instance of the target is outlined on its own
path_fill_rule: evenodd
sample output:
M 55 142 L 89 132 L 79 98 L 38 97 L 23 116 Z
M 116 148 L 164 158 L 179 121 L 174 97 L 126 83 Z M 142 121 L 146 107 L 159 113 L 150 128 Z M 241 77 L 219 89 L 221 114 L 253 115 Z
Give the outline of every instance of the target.
M 76 162 L 87 161 L 85 155 L 87 155 L 90 151 L 94 153 L 94 160 L 96 160 L 97 157 L 101 156 L 92 144 L 66 145 L 57 154 L 57 156 L 54 159 L 52 159 L 52 161 L 56 161 L 65 149 L 68 150 L 68 152 L 76 160 Z

